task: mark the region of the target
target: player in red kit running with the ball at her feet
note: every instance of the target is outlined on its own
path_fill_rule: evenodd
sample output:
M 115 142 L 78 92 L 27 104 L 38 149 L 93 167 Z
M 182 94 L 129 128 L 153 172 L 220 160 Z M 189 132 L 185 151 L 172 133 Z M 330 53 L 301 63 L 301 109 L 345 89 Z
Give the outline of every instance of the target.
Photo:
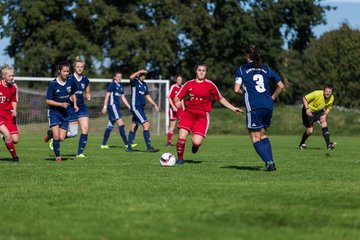
M 209 112 L 212 110 L 212 99 L 219 101 L 234 113 L 242 113 L 243 110 L 233 106 L 221 96 L 215 84 L 206 79 L 207 66 L 200 63 L 195 66 L 195 79 L 187 81 L 175 97 L 176 107 L 181 107 L 181 100 L 188 96 L 185 102 L 185 111 L 178 123 L 179 138 L 176 143 L 178 164 L 184 163 L 185 142 L 192 131 L 192 152 L 196 153 L 202 144 L 210 124 Z

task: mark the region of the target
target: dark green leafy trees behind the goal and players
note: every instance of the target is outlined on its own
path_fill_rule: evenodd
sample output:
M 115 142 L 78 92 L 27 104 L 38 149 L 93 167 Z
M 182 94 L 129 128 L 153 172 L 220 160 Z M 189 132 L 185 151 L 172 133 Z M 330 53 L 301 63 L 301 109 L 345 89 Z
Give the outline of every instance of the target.
M 54 76 L 57 63 L 80 55 L 91 77 L 145 68 L 151 78 L 190 79 L 201 61 L 233 102 L 234 71 L 256 44 L 286 83 L 281 102 L 331 83 L 336 104 L 358 107 L 359 32 L 312 31 L 334 10 L 322 0 L 11 0 L 0 1 L 0 37 L 10 38 L 6 53 L 22 76 Z

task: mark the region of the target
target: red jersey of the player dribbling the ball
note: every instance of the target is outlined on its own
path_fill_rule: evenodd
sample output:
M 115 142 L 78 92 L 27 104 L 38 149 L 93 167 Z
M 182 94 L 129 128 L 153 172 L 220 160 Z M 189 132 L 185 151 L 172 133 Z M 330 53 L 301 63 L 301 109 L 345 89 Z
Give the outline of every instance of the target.
M 185 102 L 186 109 L 198 109 L 206 112 L 212 110 L 212 99 L 218 101 L 222 98 L 216 85 L 207 79 L 203 82 L 196 82 L 195 79 L 187 81 L 176 96 L 180 100 L 185 96 L 189 97 Z

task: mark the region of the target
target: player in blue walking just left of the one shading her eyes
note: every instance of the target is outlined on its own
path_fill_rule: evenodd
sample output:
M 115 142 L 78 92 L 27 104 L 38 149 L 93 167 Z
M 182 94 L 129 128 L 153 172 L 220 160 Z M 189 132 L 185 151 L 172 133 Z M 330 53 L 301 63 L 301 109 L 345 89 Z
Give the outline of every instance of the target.
M 104 132 L 104 138 L 101 145 L 101 149 L 107 149 L 109 146 L 107 145 L 107 141 L 109 139 L 111 130 L 114 128 L 114 123 L 117 123 L 119 126 L 119 133 L 120 136 L 125 144 L 125 147 L 128 147 L 128 140 L 125 133 L 125 124 L 124 121 L 121 118 L 121 112 L 120 112 L 120 98 L 121 101 L 125 104 L 127 108 L 130 109 L 130 104 L 128 103 L 125 95 L 124 95 L 124 86 L 121 84 L 122 80 L 122 73 L 116 72 L 114 75 L 114 80 L 109 84 L 105 99 L 104 99 L 104 106 L 102 109 L 102 113 L 105 114 L 106 111 L 109 114 L 109 122 L 106 126 L 105 132 Z M 137 144 L 132 144 L 132 147 L 136 147 Z

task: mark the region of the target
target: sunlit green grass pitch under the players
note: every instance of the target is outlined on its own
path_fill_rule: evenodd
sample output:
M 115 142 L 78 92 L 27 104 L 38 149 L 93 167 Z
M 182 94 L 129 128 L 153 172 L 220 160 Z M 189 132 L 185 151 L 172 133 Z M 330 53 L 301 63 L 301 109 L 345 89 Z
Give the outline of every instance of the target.
M 271 136 L 276 172 L 246 135 L 210 135 L 183 166 L 159 166 L 160 153 L 126 153 L 120 137 L 101 150 L 90 136 L 88 159 L 77 139 L 62 163 L 41 136 L 22 136 L 20 163 L 1 146 L 0 239 L 360 239 L 359 137 L 337 137 L 325 150 L 300 136 Z M 165 136 L 153 136 L 161 152 Z

